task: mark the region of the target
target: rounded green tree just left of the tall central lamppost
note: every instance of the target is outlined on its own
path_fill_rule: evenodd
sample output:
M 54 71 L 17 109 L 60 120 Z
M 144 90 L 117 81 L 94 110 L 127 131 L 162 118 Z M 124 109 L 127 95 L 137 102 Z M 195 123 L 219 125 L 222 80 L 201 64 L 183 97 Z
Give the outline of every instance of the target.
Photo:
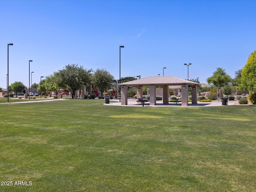
M 114 77 L 106 69 L 96 69 L 93 74 L 93 83 L 103 95 L 104 90 L 111 88 Z

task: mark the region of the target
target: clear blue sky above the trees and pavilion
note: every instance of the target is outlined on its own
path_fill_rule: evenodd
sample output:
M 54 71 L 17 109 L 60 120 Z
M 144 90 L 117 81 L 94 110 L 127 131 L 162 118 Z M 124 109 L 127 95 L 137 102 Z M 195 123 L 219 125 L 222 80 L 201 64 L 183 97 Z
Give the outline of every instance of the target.
M 234 78 L 256 49 L 256 1 L 0 1 L 0 87 L 28 86 L 68 64 L 121 76 L 172 75 L 206 83 L 217 67 Z M 31 82 L 30 82 L 31 84 Z

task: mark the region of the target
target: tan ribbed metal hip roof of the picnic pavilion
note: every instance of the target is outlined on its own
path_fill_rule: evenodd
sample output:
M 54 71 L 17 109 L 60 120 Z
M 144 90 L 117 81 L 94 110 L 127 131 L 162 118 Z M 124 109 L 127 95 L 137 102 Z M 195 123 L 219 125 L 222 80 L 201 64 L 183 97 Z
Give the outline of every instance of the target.
M 141 79 L 136 79 L 120 85 L 132 85 L 132 86 L 149 86 L 149 85 L 198 85 L 196 82 L 188 81 L 185 79 L 177 78 L 174 76 L 150 76 Z

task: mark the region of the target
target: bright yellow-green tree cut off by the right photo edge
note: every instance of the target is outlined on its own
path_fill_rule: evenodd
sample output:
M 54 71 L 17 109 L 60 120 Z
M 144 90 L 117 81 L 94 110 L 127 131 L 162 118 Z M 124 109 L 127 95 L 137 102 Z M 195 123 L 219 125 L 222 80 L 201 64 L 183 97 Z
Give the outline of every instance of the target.
M 249 55 L 246 65 L 242 68 L 238 85 L 241 90 L 256 89 L 256 50 Z

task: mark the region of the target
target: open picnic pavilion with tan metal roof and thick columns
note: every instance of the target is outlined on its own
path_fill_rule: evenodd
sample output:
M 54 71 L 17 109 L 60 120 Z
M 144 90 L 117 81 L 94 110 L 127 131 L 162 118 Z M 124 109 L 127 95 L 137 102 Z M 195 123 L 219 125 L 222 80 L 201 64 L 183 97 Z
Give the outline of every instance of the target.
M 149 86 L 150 105 L 156 105 L 156 86 L 163 86 L 163 104 L 168 104 L 169 99 L 169 85 L 181 85 L 182 98 L 181 105 L 188 105 L 188 86 L 191 85 L 192 104 L 197 104 L 197 86 L 198 83 L 177 78 L 174 76 L 150 76 L 141 79 L 136 79 L 119 84 L 121 86 L 121 105 L 127 105 L 127 90 L 128 86 L 137 87 L 137 98 L 142 98 L 142 87 Z

